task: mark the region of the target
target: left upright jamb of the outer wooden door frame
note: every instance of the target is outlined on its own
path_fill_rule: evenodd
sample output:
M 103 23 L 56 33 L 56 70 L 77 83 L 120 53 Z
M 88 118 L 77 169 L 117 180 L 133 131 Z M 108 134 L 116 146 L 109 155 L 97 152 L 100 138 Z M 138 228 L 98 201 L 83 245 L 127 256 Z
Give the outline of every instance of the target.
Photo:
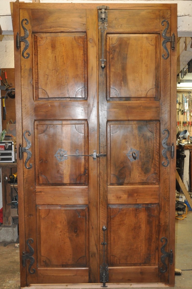
M 13 30 L 14 30 L 14 47 L 16 47 L 16 35 L 20 32 L 20 17 L 19 17 L 19 5 L 20 3 L 13 3 Z M 15 66 L 15 90 L 16 90 L 16 147 L 17 155 L 19 155 L 19 144 L 23 144 L 23 131 L 22 131 L 22 110 L 21 110 L 21 55 L 20 50 L 14 49 L 14 66 Z M 24 204 L 24 190 L 23 190 L 23 162 L 17 162 L 17 174 L 18 174 L 18 201 L 19 206 L 19 244 L 20 251 L 25 251 L 25 208 Z M 21 287 L 26 286 L 26 267 L 22 265 L 22 258 L 20 254 L 20 281 Z

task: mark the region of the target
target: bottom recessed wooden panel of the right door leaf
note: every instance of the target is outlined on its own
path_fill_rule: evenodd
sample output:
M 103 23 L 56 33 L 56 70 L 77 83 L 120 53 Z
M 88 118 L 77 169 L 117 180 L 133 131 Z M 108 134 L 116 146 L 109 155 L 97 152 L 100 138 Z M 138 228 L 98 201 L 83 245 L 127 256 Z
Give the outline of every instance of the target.
M 157 265 L 157 204 L 109 205 L 108 232 L 109 266 Z

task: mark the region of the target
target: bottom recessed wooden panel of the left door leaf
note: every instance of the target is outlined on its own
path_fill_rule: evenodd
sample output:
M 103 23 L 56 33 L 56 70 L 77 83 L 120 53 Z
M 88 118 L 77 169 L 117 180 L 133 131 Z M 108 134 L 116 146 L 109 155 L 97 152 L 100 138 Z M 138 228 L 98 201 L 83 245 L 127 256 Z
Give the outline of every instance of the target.
M 38 228 L 39 268 L 88 266 L 87 206 L 38 206 Z

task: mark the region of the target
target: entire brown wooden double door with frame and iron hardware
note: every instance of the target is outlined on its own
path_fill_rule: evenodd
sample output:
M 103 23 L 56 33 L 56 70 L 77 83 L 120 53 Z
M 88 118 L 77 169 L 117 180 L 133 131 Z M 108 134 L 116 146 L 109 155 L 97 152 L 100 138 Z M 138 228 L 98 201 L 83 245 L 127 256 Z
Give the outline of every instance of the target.
M 174 29 L 170 4 L 14 3 L 21 286 L 174 284 Z

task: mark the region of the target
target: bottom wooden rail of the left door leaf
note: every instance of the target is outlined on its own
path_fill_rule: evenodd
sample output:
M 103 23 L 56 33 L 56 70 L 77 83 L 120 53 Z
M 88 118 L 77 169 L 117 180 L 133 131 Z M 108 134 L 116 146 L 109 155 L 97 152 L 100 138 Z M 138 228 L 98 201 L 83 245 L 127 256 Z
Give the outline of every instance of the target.
M 88 268 L 38 268 L 39 283 L 88 283 Z

